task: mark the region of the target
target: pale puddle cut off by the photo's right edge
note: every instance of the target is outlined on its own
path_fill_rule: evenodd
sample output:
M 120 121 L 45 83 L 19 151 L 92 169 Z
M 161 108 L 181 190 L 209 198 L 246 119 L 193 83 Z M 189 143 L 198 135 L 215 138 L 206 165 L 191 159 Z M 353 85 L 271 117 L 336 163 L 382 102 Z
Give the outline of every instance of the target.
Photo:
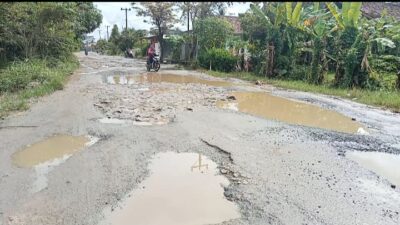
M 384 152 L 347 152 L 346 157 L 400 187 L 400 155 Z

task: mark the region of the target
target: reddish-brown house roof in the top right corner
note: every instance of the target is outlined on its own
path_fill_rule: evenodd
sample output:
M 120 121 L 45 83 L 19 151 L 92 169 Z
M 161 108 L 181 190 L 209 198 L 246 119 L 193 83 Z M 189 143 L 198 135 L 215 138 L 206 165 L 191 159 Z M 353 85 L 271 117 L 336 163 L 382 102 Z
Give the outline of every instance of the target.
M 363 2 L 361 11 L 367 18 L 378 18 L 386 9 L 388 16 L 400 20 L 400 2 Z

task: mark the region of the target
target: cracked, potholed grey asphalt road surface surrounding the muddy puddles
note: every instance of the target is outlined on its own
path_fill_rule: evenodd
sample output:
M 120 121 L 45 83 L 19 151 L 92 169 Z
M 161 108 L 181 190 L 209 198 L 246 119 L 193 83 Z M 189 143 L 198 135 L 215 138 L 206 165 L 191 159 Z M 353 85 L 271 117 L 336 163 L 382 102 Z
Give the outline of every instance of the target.
M 125 199 L 133 196 L 134 201 L 135 190 L 148 188 L 152 160 L 171 152 L 200 153 L 217 165 L 219 177 L 227 178 L 217 192 L 234 203 L 239 217 L 219 224 L 400 224 L 399 170 L 376 172 L 348 157 L 354 151 L 390 153 L 396 162 L 398 114 L 173 65 L 162 65 L 157 73 L 170 76 L 168 82 L 149 80 L 154 75 L 145 72 L 144 61 L 77 55 L 81 68 L 64 90 L 0 123 L 0 224 L 111 224 L 108 218 L 124 209 Z M 147 80 L 138 78 L 143 76 Z M 355 118 L 368 133 L 293 125 L 217 107 L 218 101 L 233 101 L 231 93 L 237 91 L 311 102 L 349 121 Z M 15 163 L 19 152 L 57 135 L 88 138 L 81 138 L 81 145 L 67 138 L 63 143 L 71 141 L 76 149 L 62 160 L 26 167 L 20 166 L 24 159 Z M 41 188 L 32 189 L 38 182 Z M 159 212 L 147 213 L 157 217 Z

